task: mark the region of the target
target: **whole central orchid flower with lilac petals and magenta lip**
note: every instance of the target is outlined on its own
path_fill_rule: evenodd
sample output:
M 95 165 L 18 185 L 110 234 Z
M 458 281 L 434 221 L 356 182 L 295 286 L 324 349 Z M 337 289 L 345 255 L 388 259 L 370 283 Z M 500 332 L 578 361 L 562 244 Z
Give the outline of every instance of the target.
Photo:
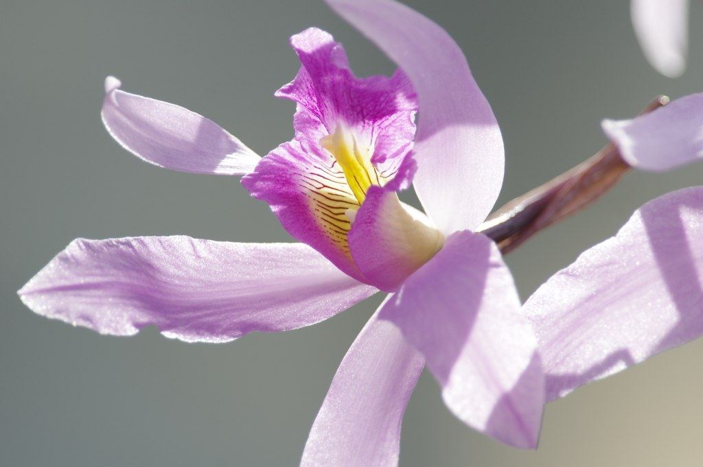
M 425 362 L 459 419 L 536 447 L 543 408 L 537 340 L 498 247 L 475 233 L 503 180 L 503 141 L 456 43 L 392 0 L 328 4 L 399 65 L 354 77 L 319 30 L 291 39 L 295 138 L 259 158 L 212 121 L 105 81 L 103 121 L 159 166 L 244 175 L 301 244 L 189 237 L 77 239 L 23 287 L 37 313 L 102 334 L 150 324 L 224 342 L 307 326 L 389 295 L 344 357 L 302 465 L 390 466 Z M 422 116 L 417 133 L 413 115 Z M 399 202 L 414 183 L 425 213 Z

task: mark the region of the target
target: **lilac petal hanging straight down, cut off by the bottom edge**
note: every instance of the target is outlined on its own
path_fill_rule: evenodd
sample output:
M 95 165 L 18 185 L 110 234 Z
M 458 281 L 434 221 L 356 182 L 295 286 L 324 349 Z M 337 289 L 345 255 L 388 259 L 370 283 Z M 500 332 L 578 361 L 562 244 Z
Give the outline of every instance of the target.
M 398 465 L 401 420 L 425 360 L 394 324 L 376 315 L 337 369 L 301 467 Z

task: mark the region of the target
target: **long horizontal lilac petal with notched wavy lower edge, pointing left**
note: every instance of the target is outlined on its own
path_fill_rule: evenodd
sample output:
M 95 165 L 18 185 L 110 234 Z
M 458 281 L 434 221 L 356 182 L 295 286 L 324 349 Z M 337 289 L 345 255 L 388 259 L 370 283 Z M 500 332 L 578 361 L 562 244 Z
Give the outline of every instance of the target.
M 231 341 L 314 324 L 375 292 L 302 244 L 77 239 L 18 292 L 40 315 L 131 335 Z

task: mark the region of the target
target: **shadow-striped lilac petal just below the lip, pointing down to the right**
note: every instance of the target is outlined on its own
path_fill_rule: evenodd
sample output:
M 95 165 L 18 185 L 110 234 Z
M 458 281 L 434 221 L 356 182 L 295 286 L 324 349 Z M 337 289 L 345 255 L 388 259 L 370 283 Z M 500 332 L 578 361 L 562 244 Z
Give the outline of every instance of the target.
M 379 317 L 425 355 L 459 419 L 536 447 L 544 402 L 537 341 L 494 242 L 468 230 L 450 235 Z

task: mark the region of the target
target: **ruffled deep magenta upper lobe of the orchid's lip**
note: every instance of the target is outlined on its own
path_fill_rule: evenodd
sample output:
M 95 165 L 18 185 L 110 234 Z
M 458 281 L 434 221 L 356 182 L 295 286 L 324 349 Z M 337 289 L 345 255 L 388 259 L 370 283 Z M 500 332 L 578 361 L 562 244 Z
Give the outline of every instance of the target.
M 311 27 L 290 38 L 301 67 L 276 96 L 295 100 L 295 139 L 313 152 L 320 138 L 344 126 L 356 143 L 370 150 L 371 161 L 396 173 L 411 150 L 417 110 L 415 90 L 406 74 L 356 78 L 347 55 L 327 32 Z M 409 183 L 408 183 L 409 185 Z

